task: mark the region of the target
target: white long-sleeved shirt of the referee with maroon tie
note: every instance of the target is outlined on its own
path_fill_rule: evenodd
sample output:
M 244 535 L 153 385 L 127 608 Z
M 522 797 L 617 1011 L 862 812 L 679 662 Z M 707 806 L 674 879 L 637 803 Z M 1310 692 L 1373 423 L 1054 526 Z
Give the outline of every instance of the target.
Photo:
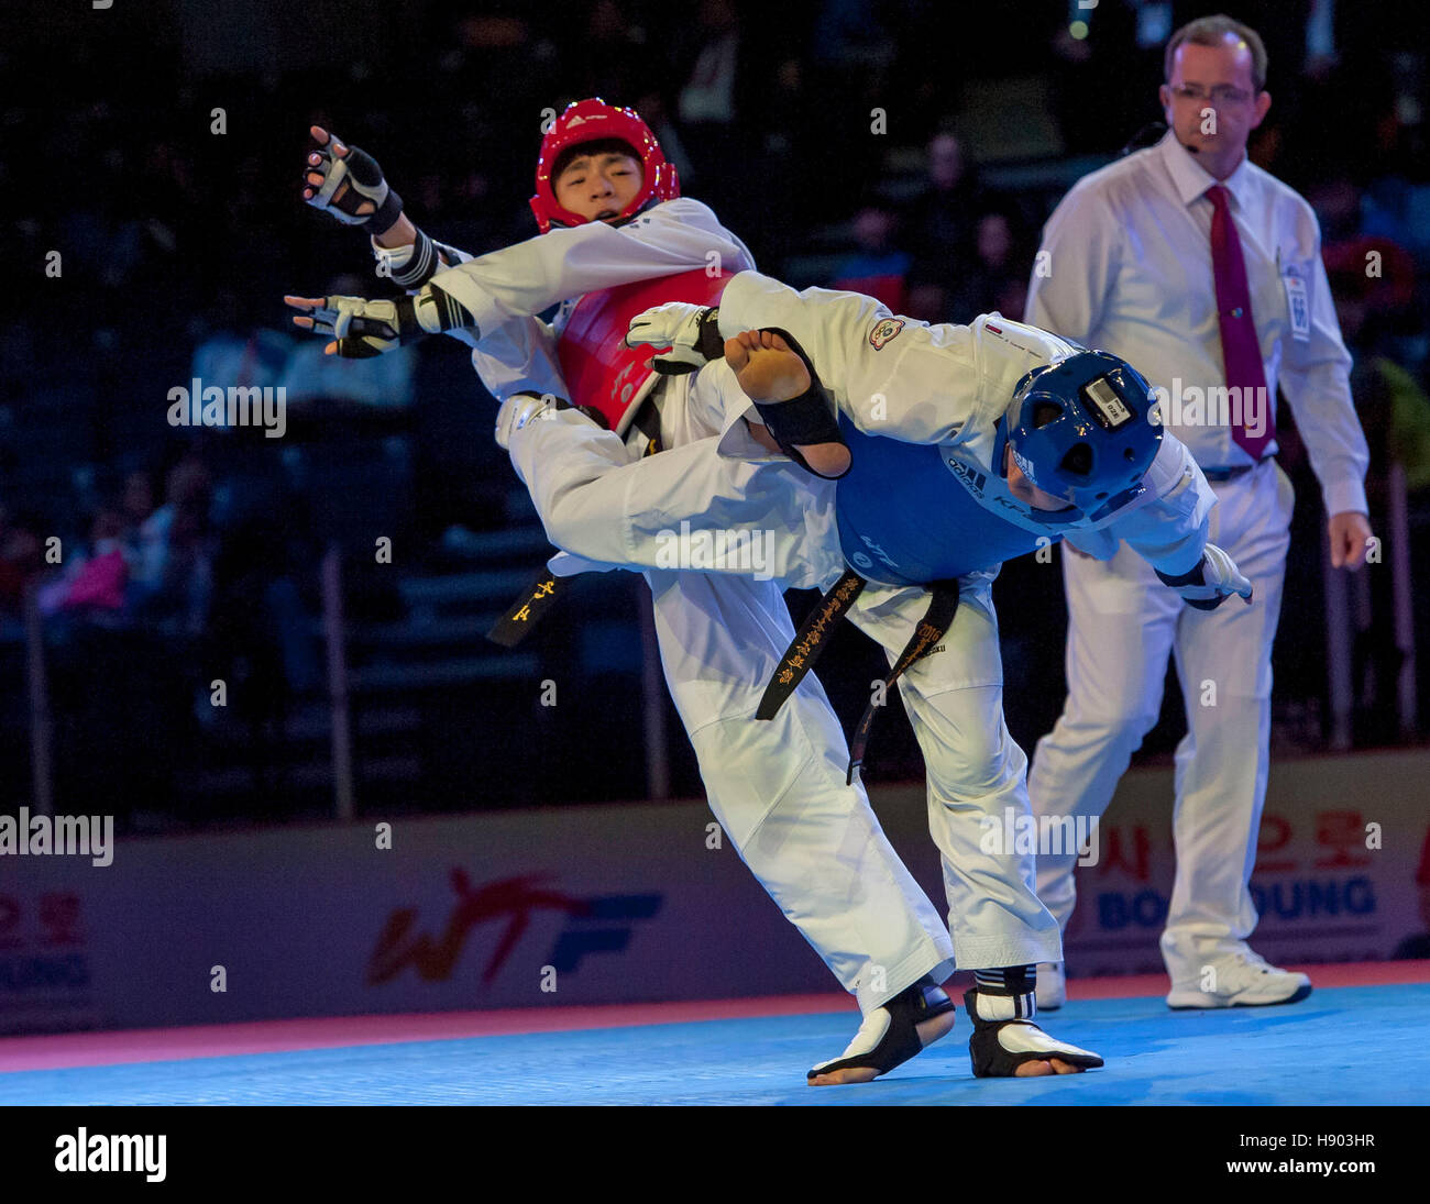
M 1251 463 L 1230 426 L 1198 420 L 1197 393 L 1188 392 L 1204 396 L 1226 383 L 1207 197 L 1216 183 L 1170 130 L 1157 146 L 1078 180 L 1044 229 L 1027 310 L 1031 325 L 1114 352 L 1165 389 L 1167 429 L 1210 472 Z M 1316 213 L 1248 159 L 1221 183 L 1241 239 L 1273 415 L 1280 385 L 1327 512 L 1364 513 L 1370 455 Z M 1298 296 L 1306 317 L 1293 323 Z

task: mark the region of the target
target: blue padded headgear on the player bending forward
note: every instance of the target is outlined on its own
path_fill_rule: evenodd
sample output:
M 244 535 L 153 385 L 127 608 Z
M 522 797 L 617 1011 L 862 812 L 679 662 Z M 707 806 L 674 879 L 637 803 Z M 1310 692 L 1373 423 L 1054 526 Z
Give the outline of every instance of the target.
M 1141 492 L 1161 425 L 1147 380 L 1108 352 L 1077 352 L 1024 376 L 1008 442 L 1022 473 L 1085 515 Z

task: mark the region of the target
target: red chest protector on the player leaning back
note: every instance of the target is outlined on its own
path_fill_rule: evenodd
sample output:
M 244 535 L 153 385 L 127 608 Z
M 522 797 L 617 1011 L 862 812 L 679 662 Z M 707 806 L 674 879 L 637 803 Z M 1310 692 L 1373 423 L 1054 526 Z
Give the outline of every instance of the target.
M 566 320 L 556 355 L 571 390 L 571 402 L 592 406 L 605 415 L 611 429 L 625 435 L 641 402 L 646 399 L 658 373 L 651 357 L 658 347 L 625 345 L 631 319 L 666 302 L 718 305 L 734 273 L 706 275 L 704 267 L 636 280 L 599 293 L 586 293 Z

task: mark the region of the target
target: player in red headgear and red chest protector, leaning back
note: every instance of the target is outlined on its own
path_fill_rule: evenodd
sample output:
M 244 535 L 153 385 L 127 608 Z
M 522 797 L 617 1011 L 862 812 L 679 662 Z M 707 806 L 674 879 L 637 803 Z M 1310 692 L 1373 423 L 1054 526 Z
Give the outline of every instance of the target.
M 472 347 L 473 366 L 498 399 L 569 399 L 593 416 L 595 425 L 582 419 L 582 426 L 601 436 L 609 465 L 642 458 L 661 465 L 719 432 L 719 373 L 662 376 L 651 367 L 651 349 L 628 347 L 625 332 L 633 313 L 658 302 L 718 299 L 729 275 L 752 259 L 708 206 L 681 196 L 675 169 L 633 112 L 593 99 L 568 107 L 538 159 L 532 210 L 541 235 L 476 257 L 418 229 L 372 156 L 327 130 L 315 127 L 313 136 L 305 199 L 370 233 L 379 275 L 409 290 L 389 300 L 289 297 L 303 310 L 297 325 L 333 337 L 330 350 L 380 355 L 446 330 Z M 558 302 L 553 323 L 535 316 Z M 735 389 L 729 370 L 719 372 Z M 661 455 L 651 456 L 655 449 Z M 573 455 L 579 463 L 583 452 Z M 761 466 L 706 455 L 681 473 L 696 493 L 722 488 L 746 498 L 819 485 L 788 460 Z M 555 535 L 545 486 L 535 473 L 528 480 Z M 615 532 L 619 510 L 583 519 Z M 555 573 L 585 568 L 569 555 L 552 562 Z M 848 745 L 819 685 L 811 679 L 774 722 L 755 719 L 762 682 L 794 636 L 782 589 L 808 583 L 802 566 L 768 569 L 769 579 L 754 581 L 652 565 L 645 578 L 665 679 L 711 809 L 865 1017 L 845 1055 L 822 1062 L 808 1081 L 862 1082 L 952 1027 L 952 1002 L 938 985 L 952 968 L 952 945 L 864 786 L 845 781 Z M 1038 1061 L 1022 1072 L 1052 1070 Z

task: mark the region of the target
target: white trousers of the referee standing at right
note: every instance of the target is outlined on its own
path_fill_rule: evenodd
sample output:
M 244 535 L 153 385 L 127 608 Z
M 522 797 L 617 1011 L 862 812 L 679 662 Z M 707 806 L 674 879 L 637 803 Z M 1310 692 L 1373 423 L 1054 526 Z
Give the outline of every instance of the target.
M 1290 546 L 1291 482 L 1274 460 L 1214 483 L 1211 542 L 1251 581 L 1253 603 L 1195 611 L 1123 545 L 1111 561 L 1062 549 L 1068 698 L 1038 741 L 1028 789 L 1037 815 L 1101 816 L 1161 711 L 1177 663 L 1187 735 L 1177 746 L 1177 877 L 1163 954 L 1173 981 L 1251 935 L 1248 882 L 1266 799 L 1271 642 Z M 1074 857 L 1038 858 L 1038 897 L 1067 927 Z

